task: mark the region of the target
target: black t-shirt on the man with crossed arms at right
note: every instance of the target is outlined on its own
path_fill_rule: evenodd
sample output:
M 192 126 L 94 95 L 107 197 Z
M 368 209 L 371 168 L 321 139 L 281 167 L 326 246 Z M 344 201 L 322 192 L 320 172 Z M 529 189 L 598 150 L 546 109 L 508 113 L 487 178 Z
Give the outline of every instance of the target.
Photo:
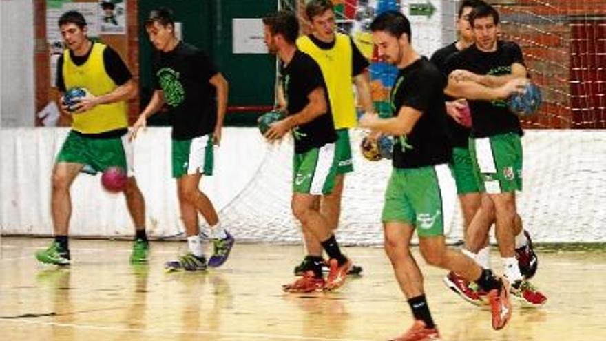
M 454 54 L 447 62 L 448 73 L 457 70 L 468 70 L 475 74 L 501 76 L 511 74 L 511 65 L 524 65 L 522 50 L 510 41 L 498 41 L 497 51 L 482 52 L 476 45 Z M 474 137 L 488 137 L 508 132 L 522 134 L 518 117 L 507 107 L 505 101 L 469 101 Z

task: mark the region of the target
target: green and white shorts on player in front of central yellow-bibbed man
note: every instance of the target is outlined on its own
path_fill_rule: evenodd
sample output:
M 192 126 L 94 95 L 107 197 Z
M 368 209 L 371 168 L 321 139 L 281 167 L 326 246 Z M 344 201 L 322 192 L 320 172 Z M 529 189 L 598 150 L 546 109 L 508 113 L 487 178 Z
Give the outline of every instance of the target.
M 293 192 L 323 195 L 332 192 L 337 176 L 335 143 L 293 157 Z

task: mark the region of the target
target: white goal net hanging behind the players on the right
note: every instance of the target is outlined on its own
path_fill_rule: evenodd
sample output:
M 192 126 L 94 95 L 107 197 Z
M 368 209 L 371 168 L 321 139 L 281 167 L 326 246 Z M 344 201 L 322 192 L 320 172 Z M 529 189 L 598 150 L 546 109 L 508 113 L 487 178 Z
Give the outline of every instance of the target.
M 501 38 L 518 43 L 543 105 L 523 121 L 524 189 L 518 205 L 527 229 L 543 242 L 574 242 L 604 226 L 606 195 L 606 0 L 488 1 L 501 14 Z M 338 30 L 351 34 L 371 61 L 375 109 L 388 112 L 388 93 L 397 70 L 376 58 L 369 23 L 384 10 L 400 10 L 412 24 L 412 43 L 426 56 L 456 39 L 459 1 L 335 0 Z M 279 1 L 297 13 L 309 32 L 304 0 Z M 346 177 L 339 239 L 351 244 L 382 242 L 380 214 L 390 173 L 388 161 L 370 163 L 353 131 L 355 172 Z M 257 227 L 252 240 L 299 242 L 292 218 L 292 142 L 268 149 L 257 176 L 221 211 L 229 225 Z M 461 238 L 457 208 L 450 238 Z M 570 227 L 574 225 L 574 227 Z M 561 229 L 561 232 L 558 232 Z

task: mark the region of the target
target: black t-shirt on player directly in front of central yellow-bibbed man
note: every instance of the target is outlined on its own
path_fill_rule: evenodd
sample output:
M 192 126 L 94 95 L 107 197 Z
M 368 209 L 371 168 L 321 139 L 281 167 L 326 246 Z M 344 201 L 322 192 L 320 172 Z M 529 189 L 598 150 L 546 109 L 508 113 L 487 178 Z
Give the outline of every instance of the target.
M 326 112 L 313 121 L 302 124 L 293 130 L 295 153 L 300 154 L 312 148 L 322 147 L 337 141 L 331 103 L 320 66 L 309 56 L 297 50 L 290 63 L 282 68 L 282 86 L 288 103 L 289 114 L 297 114 L 309 103 L 307 96 L 317 87 L 324 89 Z

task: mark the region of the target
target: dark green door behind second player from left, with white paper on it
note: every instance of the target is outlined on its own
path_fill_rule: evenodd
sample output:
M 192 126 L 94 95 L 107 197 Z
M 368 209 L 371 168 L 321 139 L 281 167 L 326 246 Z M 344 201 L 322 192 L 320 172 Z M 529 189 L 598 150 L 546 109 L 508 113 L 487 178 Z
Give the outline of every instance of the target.
M 273 105 L 275 57 L 264 54 L 233 54 L 234 18 L 261 18 L 275 12 L 277 1 L 260 0 L 153 0 L 139 1 L 139 65 L 141 105 L 145 107 L 154 90 L 151 74 L 153 46 L 145 32 L 145 18 L 154 8 L 167 7 L 182 23 L 183 40 L 205 50 L 229 82 L 230 107 Z M 263 32 L 258 32 L 262 37 Z M 259 114 L 259 113 L 257 113 Z M 254 125 L 258 115 L 228 114 L 226 123 Z M 150 125 L 169 124 L 167 115 L 152 116 Z

